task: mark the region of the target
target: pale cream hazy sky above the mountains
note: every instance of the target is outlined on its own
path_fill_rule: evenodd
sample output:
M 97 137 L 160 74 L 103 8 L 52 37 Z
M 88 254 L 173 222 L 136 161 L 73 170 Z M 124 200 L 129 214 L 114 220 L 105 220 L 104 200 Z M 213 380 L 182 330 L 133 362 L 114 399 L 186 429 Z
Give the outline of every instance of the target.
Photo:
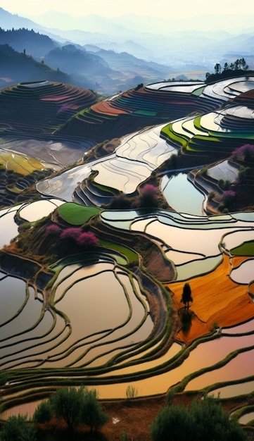
M 46 11 L 71 15 L 95 13 L 113 17 L 125 13 L 186 18 L 203 14 L 247 14 L 254 16 L 253 0 L 0 0 L 1 8 L 27 18 Z

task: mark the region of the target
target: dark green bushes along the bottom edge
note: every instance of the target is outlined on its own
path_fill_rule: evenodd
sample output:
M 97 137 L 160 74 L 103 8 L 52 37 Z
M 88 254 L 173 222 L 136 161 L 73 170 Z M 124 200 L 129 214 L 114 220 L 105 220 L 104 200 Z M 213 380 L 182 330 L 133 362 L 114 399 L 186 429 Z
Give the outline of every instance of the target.
M 172 404 L 172 399 L 170 395 L 167 406 L 161 407 L 151 425 L 147 427 L 153 441 L 248 440 L 239 423 L 234 418 L 229 418 L 218 399 L 193 399 L 191 404 L 185 406 Z M 129 402 L 129 406 L 132 406 L 132 402 Z M 53 417 L 57 419 L 54 420 Z M 108 414 L 103 411 L 96 397 L 96 390 L 83 387 L 57 390 L 48 401 L 43 401 L 37 406 L 30 421 L 27 421 L 25 416 L 11 416 L 1 428 L 0 440 L 48 439 L 47 435 L 53 433 L 53 427 L 56 429 L 61 425 L 61 421 L 65 424 L 65 439 L 69 439 L 70 436 L 71 440 L 80 440 L 82 437 L 84 440 L 112 441 L 112 438 L 103 435 L 103 426 L 108 421 Z M 139 435 L 132 430 L 122 431 L 118 439 L 141 441 Z

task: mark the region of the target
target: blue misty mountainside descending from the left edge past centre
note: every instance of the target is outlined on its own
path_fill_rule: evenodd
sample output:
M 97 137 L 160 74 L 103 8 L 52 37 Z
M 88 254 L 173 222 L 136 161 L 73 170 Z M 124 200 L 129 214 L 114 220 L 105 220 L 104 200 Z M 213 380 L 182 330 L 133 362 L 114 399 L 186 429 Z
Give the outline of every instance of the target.
M 158 63 L 146 62 L 127 52 L 117 54 L 114 51 L 106 51 L 99 47 L 97 51 L 87 51 L 79 44 L 63 45 L 47 35 L 24 28 L 18 30 L 0 29 L 0 44 L 8 44 L 18 53 L 27 57 L 32 56 L 35 60 L 49 66 L 51 70 L 61 70 L 71 75 L 73 85 L 96 89 L 97 92 L 104 95 L 135 87 L 141 82 L 147 84 L 148 82 L 160 81 L 170 77 L 175 72 L 173 68 Z M 93 47 L 92 49 L 96 48 Z M 13 58 L 13 56 L 12 53 L 11 57 Z M 25 73 L 25 59 L 16 58 L 15 63 L 18 59 L 22 61 L 23 67 L 20 70 L 16 65 L 15 72 L 13 71 L 13 61 L 8 70 L 7 59 L 3 60 L 4 71 L 2 71 L 2 77 L 10 79 L 11 84 L 38 80 L 37 75 L 32 76 L 34 75 L 34 67 L 29 73 L 27 71 L 29 65 L 26 64 Z M 20 77 L 17 75 L 19 70 Z M 44 68 L 42 68 L 42 73 L 44 73 Z M 49 79 L 49 77 L 40 77 L 39 80 L 41 79 Z

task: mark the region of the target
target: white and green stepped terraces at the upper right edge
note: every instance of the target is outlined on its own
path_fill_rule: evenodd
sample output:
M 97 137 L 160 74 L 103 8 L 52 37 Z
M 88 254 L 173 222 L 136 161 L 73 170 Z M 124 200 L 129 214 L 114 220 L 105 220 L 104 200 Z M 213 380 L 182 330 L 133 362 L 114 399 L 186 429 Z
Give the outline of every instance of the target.
M 253 142 L 254 78 L 222 80 L 204 87 L 200 97 L 221 99 L 222 108 L 202 116 L 183 118 L 165 126 L 163 136 L 186 151 L 230 155 L 236 147 Z M 218 106 L 219 107 L 219 106 Z

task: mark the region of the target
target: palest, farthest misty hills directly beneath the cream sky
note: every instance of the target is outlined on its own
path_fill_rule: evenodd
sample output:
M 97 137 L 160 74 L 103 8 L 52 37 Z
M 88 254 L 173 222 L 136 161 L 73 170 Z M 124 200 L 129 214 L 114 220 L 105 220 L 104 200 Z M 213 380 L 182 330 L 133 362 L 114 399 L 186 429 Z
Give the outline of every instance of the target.
M 252 17 L 244 15 L 244 11 L 241 17 L 204 14 L 189 20 L 172 18 L 170 24 L 164 18 L 146 17 L 145 11 L 142 17 L 133 13 L 118 18 L 74 17 L 51 11 L 37 16 L 35 22 L 0 8 L 0 27 L 5 30 L 25 27 L 61 44 L 91 44 L 118 53 L 128 52 L 146 61 L 174 66 L 182 73 L 193 70 L 194 66 L 204 72 L 210 71 L 225 57 L 227 61 L 227 54 L 234 51 L 234 47 L 238 58 L 252 56 L 249 45 L 253 37 L 252 22 Z M 236 45 L 235 38 L 238 39 Z

